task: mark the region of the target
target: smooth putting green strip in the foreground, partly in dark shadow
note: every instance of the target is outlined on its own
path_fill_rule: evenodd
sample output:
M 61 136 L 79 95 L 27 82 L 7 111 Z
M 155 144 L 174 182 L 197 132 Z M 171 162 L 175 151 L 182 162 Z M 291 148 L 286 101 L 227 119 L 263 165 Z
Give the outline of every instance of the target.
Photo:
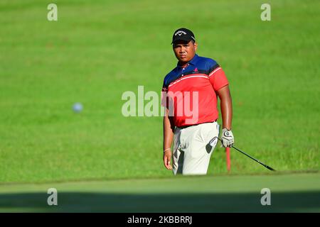
M 0 185 L 1 212 L 320 212 L 320 173 Z M 48 206 L 49 188 L 58 206 Z M 271 205 L 262 206 L 261 190 Z

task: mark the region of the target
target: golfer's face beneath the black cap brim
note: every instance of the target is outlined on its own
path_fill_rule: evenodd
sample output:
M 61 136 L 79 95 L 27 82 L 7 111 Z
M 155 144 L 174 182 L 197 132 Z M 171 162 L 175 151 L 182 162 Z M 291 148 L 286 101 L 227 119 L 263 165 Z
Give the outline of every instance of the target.
M 173 48 L 179 62 L 189 62 L 196 54 L 197 43 L 193 43 L 192 40 L 190 42 L 178 40 L 174 43 Z

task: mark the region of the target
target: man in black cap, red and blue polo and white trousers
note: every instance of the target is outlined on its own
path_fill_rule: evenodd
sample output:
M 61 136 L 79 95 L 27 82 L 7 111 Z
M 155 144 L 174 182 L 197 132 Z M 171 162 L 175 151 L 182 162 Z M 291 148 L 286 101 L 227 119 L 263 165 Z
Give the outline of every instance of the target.
M 223 120 L 222 145 L 234 143 L 228 79 L 215 60 L 196 55 L 198 44 L 192 31 L 179 28 L 171 44 L 178 64 L 164 78 L 161 92 L 161 105 L 166 106 L 164 166 L 174 175 L 206 175 L 219 135 L 217 96 Z

